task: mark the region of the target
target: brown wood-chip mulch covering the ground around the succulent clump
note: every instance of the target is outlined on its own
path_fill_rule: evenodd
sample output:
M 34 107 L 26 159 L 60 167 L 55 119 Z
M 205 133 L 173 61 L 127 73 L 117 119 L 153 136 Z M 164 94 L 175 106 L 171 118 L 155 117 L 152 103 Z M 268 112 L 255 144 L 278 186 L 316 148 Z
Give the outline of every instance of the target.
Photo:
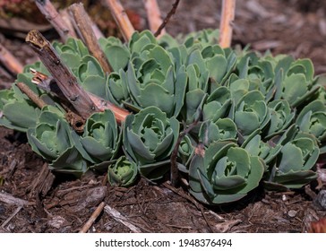
M 145 21 L 142 1 L 122 2 Z M 158 2 L 163 15 L 174 3 Z M 326 8 L 319 2 L 237 1 L 234 45 L 310 57 L 317 74 L 326 72 Z M 176 35 L 218 27 L 218 1 L 204 3 L 181 1 L 167 30 Z M 35 60 L 20 39 L 1 36 L 0 42 L 22 62 Z M 4 69 L 0 76 L 0 89 L 13 82 Z M 309 187 L 307 191 L 312 192 Z M 101 202 L 107 206 L 91 232 L 306 232 L 310 222 L 326 215 L 311 194 L 258 187 L 240 202 L 210 207 L 168 182 L 154 186 L 141 179 L 121 188 L 94 173 L 81 179 L 55 177 L 31 151 L 24 134 L 0 127 L 0 232 L 78 232 Z

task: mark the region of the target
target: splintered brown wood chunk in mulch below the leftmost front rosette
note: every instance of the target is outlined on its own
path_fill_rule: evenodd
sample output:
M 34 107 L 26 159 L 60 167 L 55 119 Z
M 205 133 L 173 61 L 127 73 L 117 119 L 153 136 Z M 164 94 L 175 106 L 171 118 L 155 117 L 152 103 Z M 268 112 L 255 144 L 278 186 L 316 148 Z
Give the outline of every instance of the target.
M 27 188 L 30 192 L 30 197 L 35 195 L 40 195 L 42 197 L 46 196 L 48 191 L 51 189 L 53 182 L 55 181 L 55 176 L 52 174 L 50 169 L 47 167 L 47 163 L 44 163 L 42 169 L 39 173 L 39 177 L 34 179 L 34 181 Z

